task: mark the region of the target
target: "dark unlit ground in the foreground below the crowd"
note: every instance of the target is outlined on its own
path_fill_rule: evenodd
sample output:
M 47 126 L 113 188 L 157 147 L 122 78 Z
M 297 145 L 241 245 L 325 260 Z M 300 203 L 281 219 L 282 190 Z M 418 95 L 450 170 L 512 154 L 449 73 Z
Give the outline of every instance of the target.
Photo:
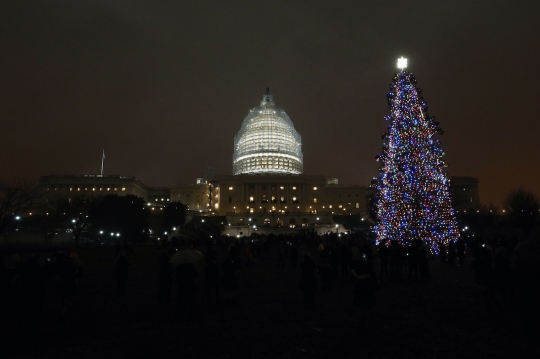
M 428 280 L 382 281 L 375 319 L 366 327 L 351 305 L 349 280 L 337 278 L 331 292 L 318 292 L 312 311 L 304 310 L 300 270 L 291 268 L 289 258 L 278 269 L 274 251 L 237 272 L 240 289 L 232 308 L 208 310 L 203 263 L 198 264 L 192 324 L 174 322 L 174 299 L 170 306 L 157 304 L 160 250 L 134 248 L 127 295 L 121 298 L 115 296 L 114 248 L 78 253 L 85 274 L 67 321 L 55 316 L 57 297 L 51 292 L 39 345 L 29 349 L 33 339 L 19 336 L 10 358 L 534 357 L 514 312 L 485 309 L 470 259 L 462 266 L 432 259 Z

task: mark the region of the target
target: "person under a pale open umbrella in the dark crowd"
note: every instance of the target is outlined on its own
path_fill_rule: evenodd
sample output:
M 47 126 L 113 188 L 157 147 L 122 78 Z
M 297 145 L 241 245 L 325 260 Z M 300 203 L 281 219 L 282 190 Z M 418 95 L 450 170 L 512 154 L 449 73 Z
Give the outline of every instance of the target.
M 194 263 L 203 258 L 203 254 L 197 250 L 188 249 L 177 252 L 171 258 L 171 263 L 176 264 L 176 285 L 177 295 L 177 322 L 193 322 L 195 319 L 193 312 L 193 296 L 197 291 L 198 273 Z

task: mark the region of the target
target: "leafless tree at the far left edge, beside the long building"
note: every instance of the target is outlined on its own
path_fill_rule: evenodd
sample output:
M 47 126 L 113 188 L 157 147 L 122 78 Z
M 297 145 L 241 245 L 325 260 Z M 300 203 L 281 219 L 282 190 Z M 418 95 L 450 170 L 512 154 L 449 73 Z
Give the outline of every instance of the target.
M 5 235 L 16 216 L 39 209 L 43 194 L 35 181 L 0 181 L 0 236 Z

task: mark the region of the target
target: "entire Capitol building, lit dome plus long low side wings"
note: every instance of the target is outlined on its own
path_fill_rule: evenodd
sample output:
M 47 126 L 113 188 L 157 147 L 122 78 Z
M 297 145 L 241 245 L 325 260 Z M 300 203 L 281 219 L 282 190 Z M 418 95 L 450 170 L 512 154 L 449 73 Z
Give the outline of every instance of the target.
M 336 226 L 336 215 L 369 217 L 367 185 L 343 185 L 336 178 L 304 173 L 302 138 L 268 89 L 234 137 L 231 175 L 208 170 L 193 184 L 159 188 L 135 177 L 111 175 L 50 175 L 40 182 L 63 196 L 133 194 L 142 197 L 156 214 L 168 202 L 181 202 L 188 206 L 190 218 L 222 216 L 228 230 L 235 227 L 236 232 L 241 227 L 341 232 L 344 228 Z M 476 191 L 478 201 L 477 186 L 476 181 L 472 189 L 467 187 L 468 192 L 460 192 L 466 194 L 466 201 L 470 191 Z M 472 202 L 473 195 L 470 197 Z

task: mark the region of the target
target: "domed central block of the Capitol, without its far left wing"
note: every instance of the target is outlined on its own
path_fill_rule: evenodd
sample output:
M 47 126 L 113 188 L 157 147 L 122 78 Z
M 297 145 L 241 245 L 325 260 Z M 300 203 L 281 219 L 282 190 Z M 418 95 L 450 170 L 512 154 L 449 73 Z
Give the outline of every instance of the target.
M 368 217 L 366 191 L 304 174 L 302 137 L 267 89 L 234 137 L 232 175 L 210 171 L 196 184 L 172 186 L 170 201 L 226 216 L 232 226 L 335 231 L 334 215 Z

